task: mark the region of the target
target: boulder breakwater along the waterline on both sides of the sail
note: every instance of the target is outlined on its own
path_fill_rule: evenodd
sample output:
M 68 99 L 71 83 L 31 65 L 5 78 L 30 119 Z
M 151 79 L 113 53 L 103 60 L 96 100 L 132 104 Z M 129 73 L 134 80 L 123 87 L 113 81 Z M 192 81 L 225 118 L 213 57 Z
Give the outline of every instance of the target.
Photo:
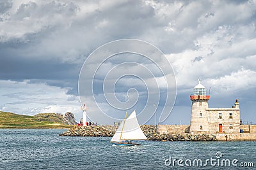
M 68 129 L 59 136 L 92 136 L 92 137 L 112 137 L 115 134 L 117 126 L 97 125 L 97 126 L 77 126 Z M 212 134 L 157 134 L 155 125 L 141 125 L 150 141 L 217 141 L 216 136 Z

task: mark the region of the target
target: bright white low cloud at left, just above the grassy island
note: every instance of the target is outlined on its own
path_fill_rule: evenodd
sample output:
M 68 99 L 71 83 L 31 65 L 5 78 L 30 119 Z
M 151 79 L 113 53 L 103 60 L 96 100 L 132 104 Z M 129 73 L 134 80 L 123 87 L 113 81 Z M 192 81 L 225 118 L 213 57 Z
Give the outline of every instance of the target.
M 1 110 L 22 115 L 37 113 L 72 112 L 77 120 L 82 115 L 79 99 L 67 94 L 68 88 L 60 88 L 44 83 L 30 83 L 0 80 Z

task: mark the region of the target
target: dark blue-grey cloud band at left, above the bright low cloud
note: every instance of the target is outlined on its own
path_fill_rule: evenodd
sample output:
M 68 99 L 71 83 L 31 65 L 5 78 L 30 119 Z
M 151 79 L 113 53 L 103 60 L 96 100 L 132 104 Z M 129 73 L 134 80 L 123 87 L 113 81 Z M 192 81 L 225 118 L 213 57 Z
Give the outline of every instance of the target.
M 74 74 L 79 73 L 79 70 L 76 64 L 62 64 L 52 60 L 24 60 L 20 57 L 0 59 L 1 79 L 63 80 L 74 78 Z

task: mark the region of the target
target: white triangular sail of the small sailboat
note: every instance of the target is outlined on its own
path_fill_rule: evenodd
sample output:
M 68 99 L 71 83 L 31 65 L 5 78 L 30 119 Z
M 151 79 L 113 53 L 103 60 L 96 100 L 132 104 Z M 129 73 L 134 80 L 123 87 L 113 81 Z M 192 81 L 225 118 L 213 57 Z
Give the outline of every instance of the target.
M 141 131 L 135 110 L 126 120 L 123 120 L 116 130 L 111 142 L 124 140 L 147 140 L 145 134 Z

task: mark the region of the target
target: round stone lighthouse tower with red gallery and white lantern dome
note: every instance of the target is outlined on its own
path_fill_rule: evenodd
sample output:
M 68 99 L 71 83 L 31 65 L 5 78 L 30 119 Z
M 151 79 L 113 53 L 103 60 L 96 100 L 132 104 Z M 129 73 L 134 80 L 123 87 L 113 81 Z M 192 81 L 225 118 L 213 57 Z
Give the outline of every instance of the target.
M 206 88 L 198 80 L 198 85 L 195 86 L 193 95 L 190 96 L 192 101 L 191 120 L 189 132 L 202 133 L 209 132 L 209 120 L 208 120 L 208 100 L 210 96 L 206 95 Z

